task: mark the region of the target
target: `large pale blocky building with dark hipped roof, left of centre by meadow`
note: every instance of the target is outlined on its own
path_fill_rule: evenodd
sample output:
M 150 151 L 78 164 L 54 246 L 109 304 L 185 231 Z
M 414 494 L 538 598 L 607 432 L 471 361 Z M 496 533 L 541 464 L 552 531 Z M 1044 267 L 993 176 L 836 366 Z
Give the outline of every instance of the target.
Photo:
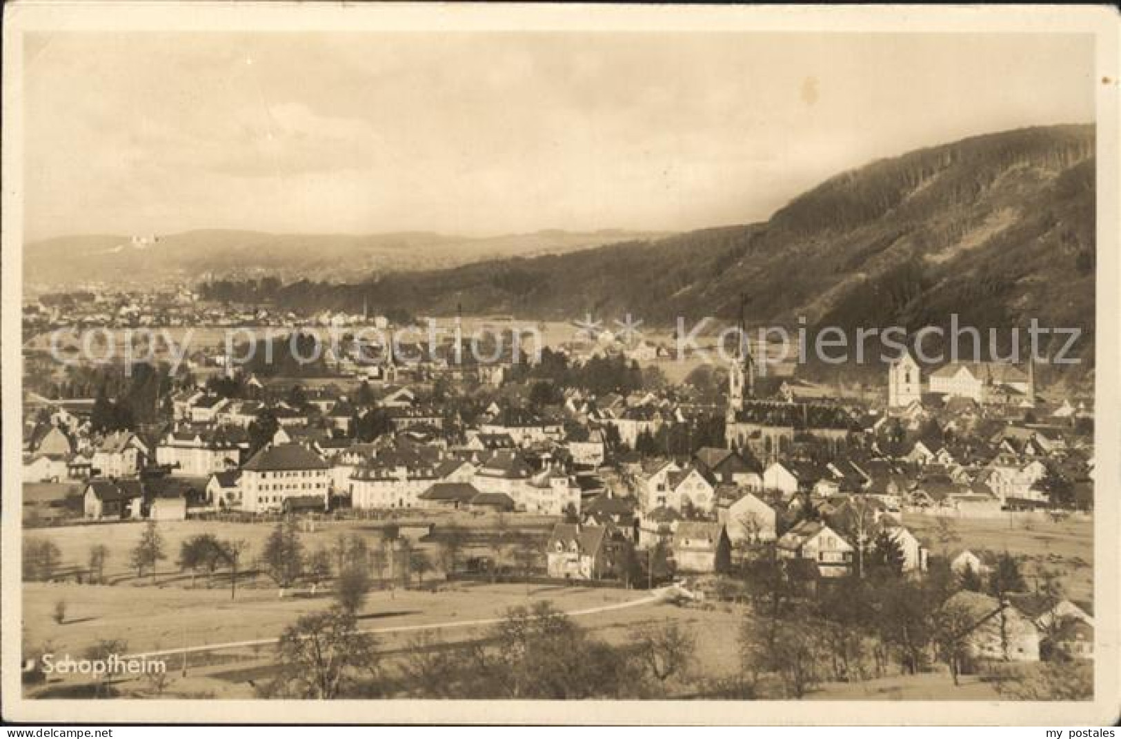
M 297 443 L 267 445 L 241 469 L 241 507 L 250 513 L 279 512 L 290 497 L 316 496 L 326 508 L 330 466 Z

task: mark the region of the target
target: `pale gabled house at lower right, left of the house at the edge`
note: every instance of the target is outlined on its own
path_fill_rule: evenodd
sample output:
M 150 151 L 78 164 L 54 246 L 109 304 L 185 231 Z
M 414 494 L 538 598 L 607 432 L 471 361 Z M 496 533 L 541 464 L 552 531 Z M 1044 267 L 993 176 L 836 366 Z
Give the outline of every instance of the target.
M 1039 629 L 1010 602 L 1001 602 L 972 590 L 960 590 L 943 607 L 960 609 L 972 621 L 966 632 L 966 656 L 970 662 L 1039 660 Z

